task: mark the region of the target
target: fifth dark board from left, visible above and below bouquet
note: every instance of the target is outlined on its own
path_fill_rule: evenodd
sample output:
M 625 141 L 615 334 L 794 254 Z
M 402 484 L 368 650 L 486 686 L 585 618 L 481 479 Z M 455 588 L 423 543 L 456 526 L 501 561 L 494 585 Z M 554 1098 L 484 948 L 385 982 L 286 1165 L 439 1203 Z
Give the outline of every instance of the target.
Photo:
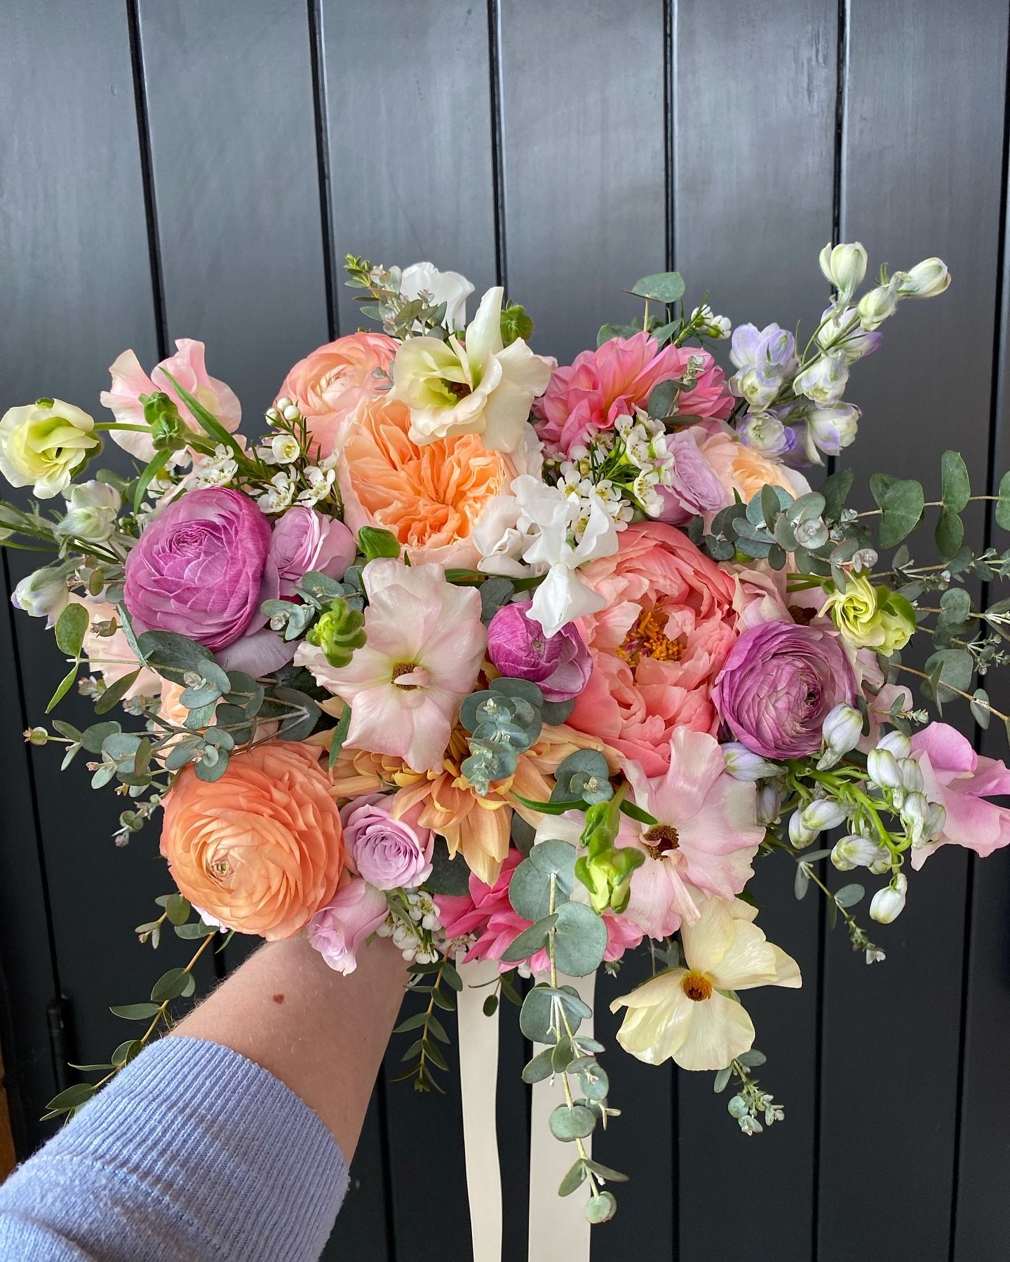
M 832 231 L 837 25 L 833 0 L 763 0 L 732 21 L 718 6 L 677 6 L 673 245 L 689 307 L 707 288 L 735 324 L 816 327 L 827 303 L 817 255 Z M 747 1257 L 800 1262 L 811 1253 L 819 909 L 813 897 L 797 904 L 788 861 L 764 858 L 756 872 L 759 923 L 803 973 L 799 992 L 745 1000 L 769 1058 L 760 1078 L 784 1103 L 785 1122 L 746 1138 L 726 1112 L 730 1093 L 713 1097 L 713 1075 L 680 1075 L 684 1258 L 731 1257 L 740 1247 L 739 1219 L 711 1213 L 708 1189 L 721 1180 L 749 1188 L 776 1223 L 774 1233 L 751 1234 Z

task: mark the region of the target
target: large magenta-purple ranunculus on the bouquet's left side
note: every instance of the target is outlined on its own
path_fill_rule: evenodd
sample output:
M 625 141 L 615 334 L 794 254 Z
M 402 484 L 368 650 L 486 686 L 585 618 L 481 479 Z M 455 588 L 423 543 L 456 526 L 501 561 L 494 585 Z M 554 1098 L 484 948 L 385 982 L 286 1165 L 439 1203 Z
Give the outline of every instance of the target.
M 223 649 L 263 626 L 270 522 L 239 491 L 210 486 L 179 496 L 126 558 L 124 599 L 139 631 L 175 631 Z

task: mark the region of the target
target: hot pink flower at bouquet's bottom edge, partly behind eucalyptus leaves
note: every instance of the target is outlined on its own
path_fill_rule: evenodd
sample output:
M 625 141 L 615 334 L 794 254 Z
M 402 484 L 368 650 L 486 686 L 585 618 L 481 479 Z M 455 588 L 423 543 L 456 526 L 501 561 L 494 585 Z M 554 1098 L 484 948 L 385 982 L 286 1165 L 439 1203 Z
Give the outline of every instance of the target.
M 466 895 L 439 895 L 438 909 L 446 938 L 466 938 L 476 935 L 476 941 L 466 954 L 466 960 L 496 959 L 501 957 L 513 941 L 529 929 L 532 921 L 524 920 L 509 901 L 509 883 L 513 872 L 523 862 L 516 849 L 510 849 L 501 872 L 492 886 L 485 885 L 478 877 L 470 875 L 470 892 Z M 607 949 L 603 959 L 620 959 L 629 949 L 638 946 L 643 939 L 639 926 L 627 916 L 603 915 L 607 926 Z M 545 973 L 550 968 L 550 958 L 545 950 L 539 950 L 524 960 L 534 973 Z M 515 963 L 502 963 L 501 972 L 516 968 Z

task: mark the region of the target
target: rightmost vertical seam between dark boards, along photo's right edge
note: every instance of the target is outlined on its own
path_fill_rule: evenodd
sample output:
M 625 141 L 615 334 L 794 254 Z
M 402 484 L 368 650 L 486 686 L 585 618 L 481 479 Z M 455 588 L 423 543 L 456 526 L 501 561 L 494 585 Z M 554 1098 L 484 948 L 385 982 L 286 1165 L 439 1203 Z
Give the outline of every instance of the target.
M 999 454 L 1000 413 L 1002 410 L 1004 382 L 1006 375 L 1006 332 L 1007 332 L 1007 298 L 1010 293 L 1006 284 L 1006 233 L 1007 233 L 1007 178 L 1010 177 L 1010 10 L 1007 11 L 1006 27 L 1006 66 L 1004 78 L 1004 120 L 1002 120 L 1002 167 L 1000 173 L 1000 209 L 997 220 L 996 240 L 996 292 L 995 310 L 992 321 L 992 381 L 990 386 L 990 415 L 989 415 L 989 452 L 986 469 L 986 488 L 990 495 L 996 486 L 996 459 Z M 986 506 L 985 520 L 985 546 L 992 541 L 994 505 Z M 982 584 L 982 608 L 989 603 L 989 583 Z M 982 731 L 975 726 L 975 747 L 980 748 Z M 957 1212 L 961 1194 L 961 1151 L 965 1128 L 965 1071 L 967 1066 L 967 1036 L 968 1036 L 968 1010 L 971 997 L 971 945 L 972 945 L 972 920 L 975 916 L 975 881 L 977 877 L 977 856 L 968 856 L 968 866 L 965 883 L 965 921 L 961 948 L 961 1012 L 958 1021 L 957 1042 L 957 1095 L 954 1103 L 953 1127 L 953 1161 L 951 1177 L 951 1237 L 948 1257 L 954 1262 L 957 1256 Z

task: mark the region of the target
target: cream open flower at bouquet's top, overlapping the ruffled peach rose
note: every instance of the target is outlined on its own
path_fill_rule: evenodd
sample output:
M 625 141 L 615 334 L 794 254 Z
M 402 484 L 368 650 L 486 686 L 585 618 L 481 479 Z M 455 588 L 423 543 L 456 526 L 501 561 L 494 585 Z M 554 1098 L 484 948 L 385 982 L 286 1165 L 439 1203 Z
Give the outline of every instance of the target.
M 433 443 L 480 434 L 492 452 L 519 445 L 533 400 L 544 392 L 553 361 L 521 337 L 501 339 L 501 286 L 489 289 L 461 342 L 409 337 L 393 361 L 390 399 L 410 408 L 410 440 Z

